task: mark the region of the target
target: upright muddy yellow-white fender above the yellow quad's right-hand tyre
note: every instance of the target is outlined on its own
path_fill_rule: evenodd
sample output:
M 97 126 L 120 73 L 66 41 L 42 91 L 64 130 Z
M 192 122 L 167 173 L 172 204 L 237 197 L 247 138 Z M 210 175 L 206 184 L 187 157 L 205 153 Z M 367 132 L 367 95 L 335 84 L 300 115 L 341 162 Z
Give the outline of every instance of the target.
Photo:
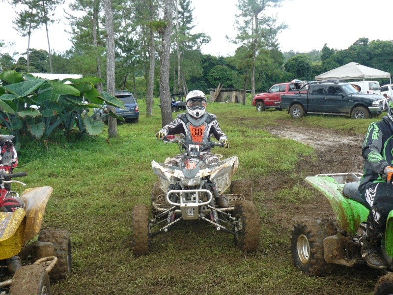
M 25 242 L 39 233 L 44 218 L 45 207 L 53 192 L 50 186 L 28 188 L 21 196 L 27 216 Z

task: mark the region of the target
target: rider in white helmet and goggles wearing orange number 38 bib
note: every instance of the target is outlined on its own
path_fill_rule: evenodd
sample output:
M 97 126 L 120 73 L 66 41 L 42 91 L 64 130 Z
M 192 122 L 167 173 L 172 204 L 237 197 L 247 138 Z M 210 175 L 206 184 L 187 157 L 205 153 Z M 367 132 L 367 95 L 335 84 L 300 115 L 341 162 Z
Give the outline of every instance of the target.
M 165 138 L 167 135 L 180 134 L 187 140 L 195 143 L 206 143 L 211 137 L 215 137 L 223 144 L 223 147 L 229 148 L 228 138 L 221 130 L 217 117 L 213 114 L 205 112 L 207 106 L 206 96 L 200 90 L 190 91 L 186 96 L 187 113 L 180 114 L 176 119 L 168 125 L 161 128 L 156 133 L 159 139 Z M 218 163 L 219 158 L 210 150 L 201 153 L 206 163 Z M 179 165 L 183 154 L 176 155 L 165 161 L 165 164 Z M 216 200 L 222 207 L 226 207 L 224 198 Z

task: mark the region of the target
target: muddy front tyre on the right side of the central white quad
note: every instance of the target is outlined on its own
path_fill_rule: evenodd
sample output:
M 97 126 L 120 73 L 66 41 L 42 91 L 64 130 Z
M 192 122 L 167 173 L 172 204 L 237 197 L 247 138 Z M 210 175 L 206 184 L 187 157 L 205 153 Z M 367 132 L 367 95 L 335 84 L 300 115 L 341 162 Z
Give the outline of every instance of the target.
M 245 252 L 256 251 L 261 223 L 253 202 L 247 200 L 237 202 L 233 216 L 236 218 L 233 228 L 236 246 Z

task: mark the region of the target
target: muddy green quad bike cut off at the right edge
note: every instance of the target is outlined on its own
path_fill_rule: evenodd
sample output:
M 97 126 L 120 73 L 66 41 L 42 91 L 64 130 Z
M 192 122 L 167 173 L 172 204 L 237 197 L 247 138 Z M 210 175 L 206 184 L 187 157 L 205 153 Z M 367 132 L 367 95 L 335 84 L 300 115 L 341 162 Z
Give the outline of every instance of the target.
M 291 236 L 291 252 L 295 266 L 308 275 L 324 276 L 336 266 L 365 265 L 361 240 L 370 206 L 358 192 L 360 173 L 319 174 L 306 181 L 329 201 L 338 228 L 328 219 L 299 221 Z M 347 179 L 354 181 L 347 181 Z M 388 216 L 382 254 L 389 265 L 374 289 L 375 295 L 393 294 L 393 211 Z

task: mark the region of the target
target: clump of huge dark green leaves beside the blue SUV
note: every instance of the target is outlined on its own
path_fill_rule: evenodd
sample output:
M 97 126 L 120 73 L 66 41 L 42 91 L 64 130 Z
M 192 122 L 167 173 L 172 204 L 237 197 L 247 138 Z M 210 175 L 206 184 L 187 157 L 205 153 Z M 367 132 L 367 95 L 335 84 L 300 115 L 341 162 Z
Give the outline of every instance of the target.
M 19 141 L 20 131 L 26 129 L 34 138 L 42 138 L 47 143 L 60 124 L 64 133 L 69 134 L 74 120 L 78 121 L 81 134 L 97 135 L 103 131 L 104 124 L 85 115 L 85 110 L 103 108 L 104 103 L 124 108 L 124 103 L 116 97 L 106 92 L 102 96 L 98 93 L 94 85 L 102 80 L 94 77 L 65 79 L 63 82 L 72 84 L 64 84 L 5 71 L 0 74 L 0 79 L 3 82 L 0 86 L 0 120 L 16 141 Z M 31 105 L 36 105 L 38 110 L 29 108 Z

